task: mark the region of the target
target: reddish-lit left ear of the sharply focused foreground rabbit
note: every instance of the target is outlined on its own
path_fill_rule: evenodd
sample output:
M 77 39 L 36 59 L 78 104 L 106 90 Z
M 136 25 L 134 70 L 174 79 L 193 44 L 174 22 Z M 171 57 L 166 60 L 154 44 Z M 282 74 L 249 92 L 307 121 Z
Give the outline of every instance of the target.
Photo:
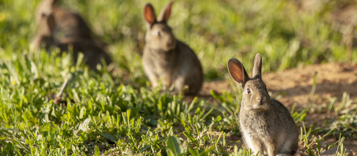
M 228 60 L 228 71 L 233 80 L 235 80 L 241 87 L 244 87 L 249 76 L 245 71 L 243 64 L 238 61 L 238 59 L 231 58 Z

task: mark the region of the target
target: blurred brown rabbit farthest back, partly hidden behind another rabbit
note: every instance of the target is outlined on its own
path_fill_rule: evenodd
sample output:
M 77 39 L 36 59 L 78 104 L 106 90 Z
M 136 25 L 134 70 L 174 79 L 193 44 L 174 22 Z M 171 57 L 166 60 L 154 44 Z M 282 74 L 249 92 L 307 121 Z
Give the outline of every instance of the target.
M 78 13 L 58 6 L 57 2 L 58 0 L 42 0 L 39 3 L 35 11 L 35 21 L 37 24 L 40 24 L 42 18 L 52 15 L 56 23 L 52 31 L 54 38 L 60 32 L 64 37 L 93 40 L 100 47 L 106 45 L 104 42 L 94 40 L 91 29 Z M 35 39 L 30 44 L 31 50 L 38 50 L 41 46 L 41 42 L 36 42 L 37 40 Z

